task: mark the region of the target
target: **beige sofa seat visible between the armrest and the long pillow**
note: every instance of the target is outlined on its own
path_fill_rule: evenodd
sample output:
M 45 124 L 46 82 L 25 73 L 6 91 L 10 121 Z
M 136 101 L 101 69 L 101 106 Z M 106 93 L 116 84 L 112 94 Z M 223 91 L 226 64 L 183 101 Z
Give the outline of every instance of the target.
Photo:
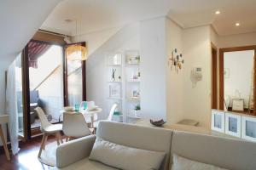
M 107 165 L 104 165 L 97 161 L 90 161 L 89 158 L 85 158 L 81 161 L 77 161 L 68 167 L 59 168 L 59 170 L 116 170 L 114 167 L 108 167 Z

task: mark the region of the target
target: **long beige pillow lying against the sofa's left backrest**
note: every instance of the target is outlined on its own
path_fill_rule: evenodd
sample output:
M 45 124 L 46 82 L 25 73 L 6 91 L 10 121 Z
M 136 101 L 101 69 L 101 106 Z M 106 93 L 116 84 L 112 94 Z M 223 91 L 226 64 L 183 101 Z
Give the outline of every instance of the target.
M 164 152 L 141 150 L 96 139 L 89 159 L 125 170 L 158 170 L 165 155 Z

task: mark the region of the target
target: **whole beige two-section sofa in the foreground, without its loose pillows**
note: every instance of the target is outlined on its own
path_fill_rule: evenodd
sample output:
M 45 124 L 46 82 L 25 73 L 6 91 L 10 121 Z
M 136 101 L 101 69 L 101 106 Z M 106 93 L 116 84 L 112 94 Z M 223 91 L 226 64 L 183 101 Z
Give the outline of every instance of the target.
M 115 169 L 88 159 L 96 136 L 133 148 L 166 152 L 160 170 L 171 169 L 174 153 L 230 170 L 256 169 L 255 143 L 118 122 L 100 122 L 96 135 L 61 144 L 56 150 L 58 169 Z

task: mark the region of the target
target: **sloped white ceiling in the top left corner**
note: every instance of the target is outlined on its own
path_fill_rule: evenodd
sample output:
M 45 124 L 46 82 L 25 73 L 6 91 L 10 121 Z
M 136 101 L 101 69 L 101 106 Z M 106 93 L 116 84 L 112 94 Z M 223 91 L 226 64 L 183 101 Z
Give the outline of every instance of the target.
M 0 70 L 8 68 L 60 1 L 0 1 Z

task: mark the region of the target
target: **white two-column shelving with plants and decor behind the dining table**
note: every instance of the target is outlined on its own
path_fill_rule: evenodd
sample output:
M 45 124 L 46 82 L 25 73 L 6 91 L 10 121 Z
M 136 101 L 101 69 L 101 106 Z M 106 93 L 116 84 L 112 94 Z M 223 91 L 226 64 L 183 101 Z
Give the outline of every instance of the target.
M 134 122 L 140 119 L 140 54 L 138 50 L 111 53 L 106 56 L 108 103 L 119 105 L 119 122 Z M 113 77 L 114 71 L 114 77 Z M 116 116 L 118 117 L 118 116 Z

